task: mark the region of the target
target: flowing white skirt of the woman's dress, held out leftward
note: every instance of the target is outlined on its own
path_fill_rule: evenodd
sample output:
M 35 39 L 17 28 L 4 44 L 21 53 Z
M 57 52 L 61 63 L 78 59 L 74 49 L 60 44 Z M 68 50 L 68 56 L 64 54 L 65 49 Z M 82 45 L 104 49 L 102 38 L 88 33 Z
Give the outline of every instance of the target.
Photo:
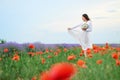
M 90 32 L 79 30 L 68 30 L 69 34 L 72 35 L 76 40 L 79 41 L 83 50 L 92 48 L 92 43 L 90 40 Z

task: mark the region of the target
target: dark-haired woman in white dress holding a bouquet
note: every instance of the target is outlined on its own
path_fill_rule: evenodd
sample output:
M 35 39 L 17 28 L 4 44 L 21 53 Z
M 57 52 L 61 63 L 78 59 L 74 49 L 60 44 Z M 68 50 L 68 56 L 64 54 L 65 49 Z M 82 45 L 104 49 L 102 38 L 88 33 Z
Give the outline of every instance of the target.
M 82 50 L 84 50 L 84 55 L 86 55 L 86 50 L 88 48 L 92 48 L 92 43 L 90 40 L 90 33 L 92 31 L 92 23 L 90 21 L 90 18 L 87 14 L 82 15 L 83 22 L 73 28 L 68 28 L 68 32 L 76 38 L 82 47 Z

